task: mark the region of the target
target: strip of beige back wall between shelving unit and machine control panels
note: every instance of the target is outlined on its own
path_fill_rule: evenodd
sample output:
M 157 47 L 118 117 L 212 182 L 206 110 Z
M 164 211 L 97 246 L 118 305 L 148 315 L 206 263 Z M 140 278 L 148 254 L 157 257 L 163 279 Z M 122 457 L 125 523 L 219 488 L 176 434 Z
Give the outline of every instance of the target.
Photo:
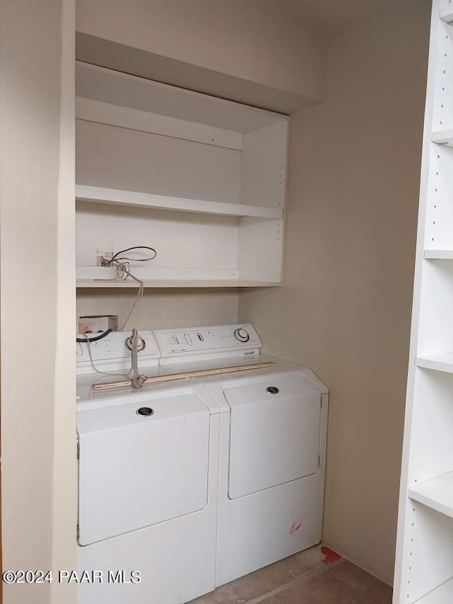
M 125 321 L 137 295 L 136 290 L 79 290 L 77 317 L 84 314 L 118 314 Z M 236 323 L 237 290 L 145 290 L 139 329 L 197 327 Z M 127 325 L 134 326 L 134 317 Z

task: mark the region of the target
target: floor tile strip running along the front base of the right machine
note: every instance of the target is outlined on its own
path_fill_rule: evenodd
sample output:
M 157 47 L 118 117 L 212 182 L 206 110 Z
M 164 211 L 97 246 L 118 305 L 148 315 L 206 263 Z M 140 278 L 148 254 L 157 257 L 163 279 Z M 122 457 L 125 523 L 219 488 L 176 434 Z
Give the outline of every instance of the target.
M 236 581 L 226 583 L 215 591 L 192 600 L 190 604 L 245 603 L 310 572 L 312 572 L 312 567 L 304 562 L 301 554 L 295 554 L 280 560 L 280 562 L 266 566 L 264 569 L 236 579 Z

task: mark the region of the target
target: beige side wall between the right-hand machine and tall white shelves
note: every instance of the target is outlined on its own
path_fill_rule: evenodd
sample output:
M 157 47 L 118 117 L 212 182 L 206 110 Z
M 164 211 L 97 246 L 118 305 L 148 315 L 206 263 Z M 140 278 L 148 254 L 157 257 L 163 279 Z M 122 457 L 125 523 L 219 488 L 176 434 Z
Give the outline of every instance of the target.
M 389 582 L 429 18 L 413 0 L 333 39 L 326 103 L 292 120 L 285 285 L 239 296 L 330 388 L 324 541 Z

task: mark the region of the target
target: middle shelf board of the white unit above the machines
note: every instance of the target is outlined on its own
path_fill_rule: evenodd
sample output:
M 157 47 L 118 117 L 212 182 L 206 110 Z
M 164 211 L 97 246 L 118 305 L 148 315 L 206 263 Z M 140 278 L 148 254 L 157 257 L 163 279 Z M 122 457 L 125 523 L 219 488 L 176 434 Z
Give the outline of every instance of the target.
M 125 205 L 129 207 L 149 207 L 158 208 L 159 210 L 196 212 L 198 214 L 282 218 L 281 208 L 167 197 L 166 195 L 151 195 L 150 193 L 137 193 L 136 191 L 91 187 L 86 185 L 76 185 L 76 200 L 111 205 Z

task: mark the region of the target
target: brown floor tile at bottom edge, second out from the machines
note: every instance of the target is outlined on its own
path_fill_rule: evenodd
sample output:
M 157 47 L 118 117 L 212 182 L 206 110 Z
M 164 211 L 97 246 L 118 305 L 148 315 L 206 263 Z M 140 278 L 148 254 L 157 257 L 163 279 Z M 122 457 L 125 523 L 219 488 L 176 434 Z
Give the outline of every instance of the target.
M 284 591 L 263 599 L 262 604 L 370 604 L 370 601 L 325 571 L 297 579 Z

